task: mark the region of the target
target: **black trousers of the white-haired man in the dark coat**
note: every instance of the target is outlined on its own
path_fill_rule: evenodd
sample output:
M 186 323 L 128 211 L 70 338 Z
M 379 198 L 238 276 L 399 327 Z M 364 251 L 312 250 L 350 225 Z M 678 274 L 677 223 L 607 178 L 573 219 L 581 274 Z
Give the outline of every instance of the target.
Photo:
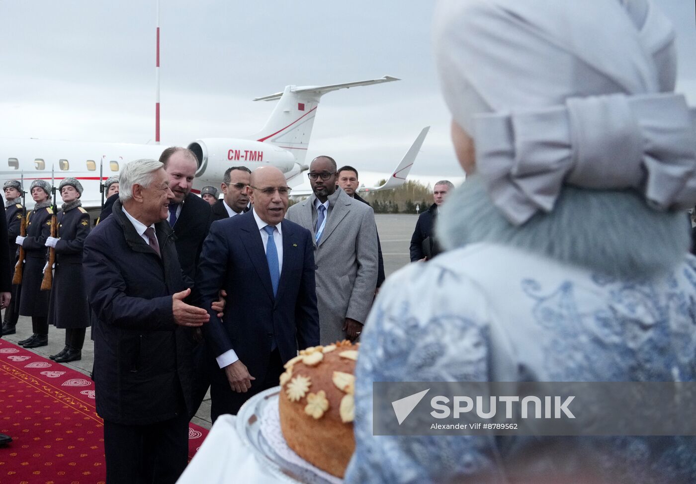
M 186 412 L 157 424 L 104 420 L 106 484 L 174 484 L 189 459 Z

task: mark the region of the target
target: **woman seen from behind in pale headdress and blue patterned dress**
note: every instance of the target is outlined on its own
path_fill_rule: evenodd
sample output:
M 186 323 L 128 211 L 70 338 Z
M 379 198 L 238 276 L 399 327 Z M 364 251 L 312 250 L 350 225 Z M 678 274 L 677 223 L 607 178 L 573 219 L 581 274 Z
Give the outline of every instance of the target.
M 467 172 L 448 252 L 382 287 L 347 483 L 694 483 L 695 437 L 372 435 L 375 381 L 693 381 L 696 130 L 649 0 L 447 0 L 434 45 Z

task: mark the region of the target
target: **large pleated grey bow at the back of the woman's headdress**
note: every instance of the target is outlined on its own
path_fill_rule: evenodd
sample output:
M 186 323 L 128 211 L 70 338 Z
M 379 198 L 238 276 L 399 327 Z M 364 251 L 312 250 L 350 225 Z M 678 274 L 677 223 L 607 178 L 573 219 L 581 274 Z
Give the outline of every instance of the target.
M 515 225 L 551 211 L 563 184 L 635 188 L 656 209 L 696 202 L 695 129 L 681 95 L 569 98 L 473 119 L 477 170 Z

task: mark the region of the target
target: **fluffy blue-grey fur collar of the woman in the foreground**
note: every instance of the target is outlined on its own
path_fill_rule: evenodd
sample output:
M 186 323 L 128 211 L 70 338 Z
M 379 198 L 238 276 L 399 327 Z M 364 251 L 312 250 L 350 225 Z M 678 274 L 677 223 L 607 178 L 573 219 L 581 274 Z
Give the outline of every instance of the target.
M 564 186 L 551 213 L 537 213 L 515 227 L 477 175 L 467 177 L 443 204 L 436 234 L 447 249 L 474 242 L 513 245 L 617 277 L 670 271 L 690 247 L 686 212 L 656 211 L 630 190 Z

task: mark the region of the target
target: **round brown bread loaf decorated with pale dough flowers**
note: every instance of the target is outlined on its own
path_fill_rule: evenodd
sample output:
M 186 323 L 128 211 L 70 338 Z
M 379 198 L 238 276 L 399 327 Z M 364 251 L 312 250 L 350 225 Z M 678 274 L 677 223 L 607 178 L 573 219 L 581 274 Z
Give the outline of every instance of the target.
M 342 478 L 355 451 L 355 363 L 358 345 L 341 341 L 302 350 L 280 376 L 280 428 L 290 449 Z

